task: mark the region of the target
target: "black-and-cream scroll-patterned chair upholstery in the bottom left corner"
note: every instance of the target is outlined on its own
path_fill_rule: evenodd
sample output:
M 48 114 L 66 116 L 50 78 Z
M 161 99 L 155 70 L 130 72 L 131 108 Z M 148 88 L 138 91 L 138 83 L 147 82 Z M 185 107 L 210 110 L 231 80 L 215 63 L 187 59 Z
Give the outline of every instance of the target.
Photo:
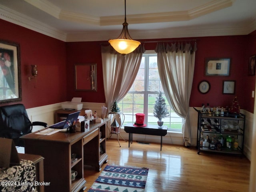
M 1 192 L 37 192 L 35 180 L 36 168 L 30 160 L 22 159 L 18 165 L 0 168 Z

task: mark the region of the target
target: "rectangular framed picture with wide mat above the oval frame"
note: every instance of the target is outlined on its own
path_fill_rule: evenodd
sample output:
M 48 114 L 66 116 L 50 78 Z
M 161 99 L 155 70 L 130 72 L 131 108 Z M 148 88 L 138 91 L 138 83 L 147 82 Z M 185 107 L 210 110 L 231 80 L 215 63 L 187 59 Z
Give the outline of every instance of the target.
M 205 60 L 206 76 L 229 76 L 230 58 L 206 58 Z

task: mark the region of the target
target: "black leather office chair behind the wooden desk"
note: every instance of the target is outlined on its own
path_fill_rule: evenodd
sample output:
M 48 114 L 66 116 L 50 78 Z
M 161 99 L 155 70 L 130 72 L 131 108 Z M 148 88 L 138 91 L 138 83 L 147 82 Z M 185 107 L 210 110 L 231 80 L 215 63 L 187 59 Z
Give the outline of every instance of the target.
M 37 125 L 47 127 L 44 122 L 31 122 L 23 104 L 0 107 L 0 137 L 13 139 L 16 146 L 24 147 L 20 137 L 31 133 Z

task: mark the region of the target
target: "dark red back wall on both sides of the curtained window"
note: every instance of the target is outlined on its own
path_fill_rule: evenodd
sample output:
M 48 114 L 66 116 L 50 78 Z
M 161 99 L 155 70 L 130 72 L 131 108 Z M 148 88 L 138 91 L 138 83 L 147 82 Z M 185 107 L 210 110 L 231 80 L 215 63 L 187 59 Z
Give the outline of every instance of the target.
M 255 89 L 255 76 L 248 76 L 248 60 L 249 55 L 256 54 L 256 50 L 248 50 L 256 47 L 256 38 L 254 36 L 254 43 L 251 42 L 251 38 L 252 37 L 249 35 L 196 38 L 198 50 L 196 51 L 194 81 L 190 97 L 190 106 L 199 107 L 202 105 L 202 103 L 204 103 L 205 105 L 209 103 L 210 106 L 226 107 L 230 106 L 232 104 L 234 96 L 237 96 L 241 108 L 253 112 L 254 98 L 252 98 L 251 95 L 252 90 Z M 182 40 L 186 39 L 188 40 L 193 38 L 182 38 Z M 248 43 L 251 44 L 252 48 L 246 47 Z M 145 43 L 146 50 L 154 50 L 155 48 L 156 43 Z M 77 50 L 84 50 L 84 52 L 77 52 Z M 67 52 L 69 53 L 67 59 L 68 63 L 97 63 L 98 70 L 98 94 L 95 92 L 70 92 L 70 94 L 68 93 L 68 98 L 70 99 L 72 98 L 72 96 L 82 96 L 84 101 L 87 102 L 104 102 L 105 98 L 102 83 L 100 42 L 67 43 Z M 250 54 L 248 52 L 250 52 Z M 210 57 L 231 58 L 230 76 L 205 76 L 205 58 Z M 73 72 L 73 68 L 73 66 L 69 66 L 68 70 L 71 70 Z M 201 94 L 200 92 L 198 92 L 198 83 L 202 80 L 207 80 L 208 82 L 210 82 L 211 88 L 207 94 Z M 223 80 L 236 81 L 236 92 L 234 95 L 222 94 Z M 69 86 L 73 86 L 73 84 L 73 80 L 70 80 Z

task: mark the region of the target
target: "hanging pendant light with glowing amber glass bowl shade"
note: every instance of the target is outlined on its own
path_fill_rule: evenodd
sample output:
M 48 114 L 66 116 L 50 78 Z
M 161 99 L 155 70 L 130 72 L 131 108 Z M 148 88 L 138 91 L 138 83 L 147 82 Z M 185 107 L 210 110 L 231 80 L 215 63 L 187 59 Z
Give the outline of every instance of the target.
M 108 42 L 118 53 L 125 55 L 133 52 L 140 45 L 140 42 L 133 40 L 128 32 L 128 23 L 126 22 L 126 0 L 124 0 L 124 10 L 123 30 L 117 39 L 110 39 Z

